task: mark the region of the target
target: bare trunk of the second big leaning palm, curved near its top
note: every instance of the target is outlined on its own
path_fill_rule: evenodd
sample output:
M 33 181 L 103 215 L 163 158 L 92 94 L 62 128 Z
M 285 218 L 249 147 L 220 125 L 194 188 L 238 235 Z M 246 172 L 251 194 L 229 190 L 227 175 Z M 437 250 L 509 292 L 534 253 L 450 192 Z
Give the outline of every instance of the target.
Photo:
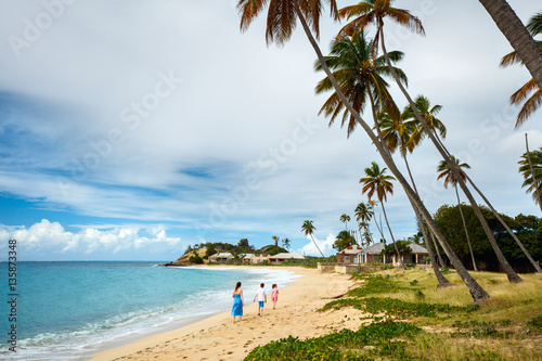
M 483 231 L 486 232 L 486 235 L 488 236 L 489 243 L 491 244 L 491 247 L 493 248 L 493 252 L 496 255 L 496 259 L 499 260 L 499 263 L 501 265 L 502 269 L 504 270 L 504 272 L 506 272 L 506 275 L 508 276 L 508 281 L 509 282 L 521 282 L 522 281 L 521 278 L 519 275 L 517 275 L 517 273 L 512 269 L 512 267 L 509 266 L 508 261 L 504 257 L 501 248 L 496 244 L 495 237 L 493 236 L 493 233 L 491 232 L 491 229 L 489 228 L 488 222 L 483 218 L 483 215 L 481 214 L 480 208 L 478 207 L 478 205 L 476 204 L 475 198 L 473 197 L 473 195 L 468 191 L 467 186 L 465 185 L 465 182 L 463 182 L 463 180 L 461 179 L 461 177 L 459 175 L 459 170 L 455 169 L 455 165 L 454 165 L 454 163 L 450 158 L 450 154 L 448 154 L 447 151 L 444 152 L 444 147 L 442 147 L 441 144 L 439 144 L 438 140 L 435 138 L 434 133 L 429 129 L 429 126 L 427 125 L 427 123 L 425 121 L 425 119 L 422 117 L 422 115 L 417 111 L 417 107 L 414 104 L 414 102 L 412 101 L 412 98 L 406 92 L 406 90 L 404 89 L 404 87 L 402 86 L 402 83 L 399 81 L 399 78 L 397 77 L 396 70 L 391 66 L 391 61 L 389 60 L 388 52 L 386 51 L 386 44 L 384 43 L 384 30 L 383 30 L 384 26 L 383 25 L 384 24 L 383 24 L 383 22 L 380 20 L 378 22 L 378 27 L 379 27 L 379 31 L 380 31 L 380 44 L 382 44 L 382 48 L 383 48 L 384 56 L 386 57 L 386 63 L 388 64 L 388 68 L 390 69 L 390 73 L 393 76 L 393 79 L 396 80 L 396 82 L 399 86 L 399 88 L 401 89 L 402 93 L 404 94 L 404 96 L 409 101 L 409 104 L 411 105 L 412 111 L 416 115 L 416 118 L 420 120 L 420 123 L 424 127 L 425 131 L 427 132 L 427 136 L 431 139 L 433 143 L 435 144 L 435 146 L 437 147 L 437 150 L 439 151 L 439 153 L 442 155 L 442 158 L 446 160 L 446 163 L 450 167 L 450 170 L 452 171 L 453 177 L 457 180 L 457 182 L 460 183 L 461 189 L 465 193 L 465 196 L 468 198 L 468 202 L 473 206 L 473 209 L 474 209 L 476 216 L 478 217 L 478 219 L 480 220 L 480 223 L 481 223 L 481 225 L 483 228 Z

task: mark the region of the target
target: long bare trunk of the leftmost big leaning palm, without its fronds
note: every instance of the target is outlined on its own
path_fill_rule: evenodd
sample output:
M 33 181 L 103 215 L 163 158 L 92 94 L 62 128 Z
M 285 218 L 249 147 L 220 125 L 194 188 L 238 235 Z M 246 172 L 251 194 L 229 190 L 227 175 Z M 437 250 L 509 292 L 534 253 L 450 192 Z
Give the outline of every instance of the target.
M 340 102 L 348 108 L 348 112 L 356 118 L 358 124 L 365 130 L 367 136 L 370 137 L 371 141 L 375 144 L 376 149 L 378 150 L 378 153 L 380 154 L 383 160 L 386 163 L 388 166 L 388 169 L 393 173 L 396 179 L 399 181 L 401 186 L 403 188 L 406 196 L 416 205 L 416 207 L 420 209 L 422 212 L 422 216 L 426 219 L 427 225 L 429 229 L 434 232 L 435 236 L 439 241 L 440 245 L 444 249 L 444 252 L 448 255 L 448 258 L 452 262 L 452 266 L 455 268 L 457 271 L 457 274 L 461 276 L 463 282 L 468 288 L 468 292 L 470 293 L 470 296 L 473 297 L 473 300 L 475 304 L 483 301 L 488 299 L 490 296 L 489 294 L 476 282 L 476 280 L 468 273 L 468 271 L 465 269 L 465 267 L 461 263 L 460 259 L 457 256 L 453 253 L 452 248 L 446 241 L 446 238 L 442 236 L 440 233 L 439 229 L 437 228 L 437 224 L 433 220 L 429 211 L 427 208 L 425 208 L 422 199 L 420 199 L 418 196 L 414 193 L 412 188 L 409 185 L 402 173 L 399 171 L 397 166 L 393 163 L 393 159 L 389 156 L 386 155 L 386 152 L 384 151 L 384 147 L 382 144 L 379 144 L 378 139 L 374 136 L 374 133 L 371 131 L 371 128 L 369 125 L 363 120 L 363 118 L 359 115 L 359 113 L 353 108 L 352 104 L 348 102 L 346 99 L 345 94 L 340 90 L 339 85 L 337 83 L 337 79 L 333 76 L 332 72 L 327 67 L 327 64 L 325 63 L 324 56 L 322 55 L 322 52 L 320 51 L 320 48 L 318 47 L 317 41 L 312 37 L 312 34 L 310 31 L 309 26 L 307 25 L 307 22 L 305 21 L 305 17 L 299 9 L 299 4 L 297 2 L 294 3 L 294 11 L 296 12 L 297 17 L 299 18 L 299 22 L 301 23 L 301 26 L 305 30 L 305 34 L 307 35 L 307 38 L 309 39 L 309 42 L 311 43 L 312 48 L 314 49 L 314 52 L 317 53 L 318 60 L 320 64 L 322 65 L 322 68 L 324 69 L 325 74 L 327 75 L 327 78 L 333 85 L 333 88 L 337 92 L 338 98 L 340 99 Z

